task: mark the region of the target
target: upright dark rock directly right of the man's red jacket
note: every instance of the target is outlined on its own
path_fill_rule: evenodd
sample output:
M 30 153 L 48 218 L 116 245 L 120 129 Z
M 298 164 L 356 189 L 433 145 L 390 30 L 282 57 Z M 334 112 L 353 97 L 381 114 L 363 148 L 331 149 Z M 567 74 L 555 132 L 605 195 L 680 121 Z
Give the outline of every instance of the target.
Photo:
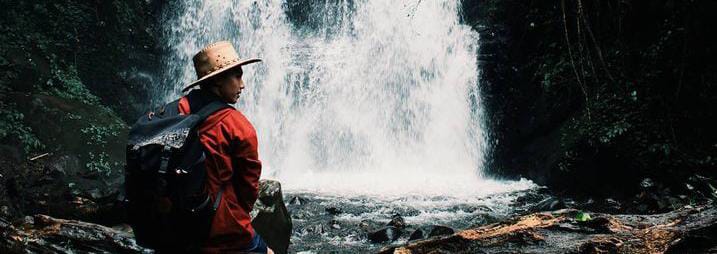
M 278 181 L 259 181 L 259 197 L 252 215 L 251 224 L 266 244 L 275 253 L 287 253 L 293 225 Z

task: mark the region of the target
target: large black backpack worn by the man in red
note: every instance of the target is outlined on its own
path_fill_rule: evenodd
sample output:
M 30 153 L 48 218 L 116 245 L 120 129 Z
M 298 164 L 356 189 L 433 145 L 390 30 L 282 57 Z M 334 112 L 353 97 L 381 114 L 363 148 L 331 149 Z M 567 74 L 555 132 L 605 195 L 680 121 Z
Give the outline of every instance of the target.
M 142 116 L 127 145 L 124 205 L 137 244 L 196 252 L 209 235 L 222 192 L 205 190 L 206 158 L 197 133 L 212 113 L 230 107 L 213 101 L 180 115 L 179 100 Z

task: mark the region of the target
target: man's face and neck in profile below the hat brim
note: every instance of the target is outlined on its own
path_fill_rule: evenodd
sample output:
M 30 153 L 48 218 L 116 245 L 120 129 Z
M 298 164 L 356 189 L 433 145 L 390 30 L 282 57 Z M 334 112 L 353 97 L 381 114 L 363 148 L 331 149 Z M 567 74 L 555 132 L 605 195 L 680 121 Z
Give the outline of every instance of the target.
M 241 91 L 244 89 L 243 74 L 241 67 L 237 66 L 211 77 L 199 86 L 202 90 L 217 95 L 226 103 L 236 103 L 239 100 Z

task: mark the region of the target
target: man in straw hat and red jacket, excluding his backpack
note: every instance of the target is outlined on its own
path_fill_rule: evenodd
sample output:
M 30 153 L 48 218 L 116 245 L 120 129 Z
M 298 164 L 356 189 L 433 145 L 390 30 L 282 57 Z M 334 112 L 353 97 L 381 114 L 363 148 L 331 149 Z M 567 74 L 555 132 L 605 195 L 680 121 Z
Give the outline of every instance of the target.
M 200 89 L 191 90 L 180 99 L 180 114 L 197 112 L 215 100 L 236 103 L 244 89 L 241 67 L 259 61 L 240 59 L 227 41 L 202 49 L 193 58 L 198 80 L 182 91 L 197 86 Z M 198 133 L 207 156 L 207 191 L 212 197 L 219 197 L 218 201 L 212 200 L 218 206 L 202 252 L 273 253 L 254 231 L 249 215 L 257 199 L 261 175 L 254 127 L 241 112 L 226 108 L 209 115 Z

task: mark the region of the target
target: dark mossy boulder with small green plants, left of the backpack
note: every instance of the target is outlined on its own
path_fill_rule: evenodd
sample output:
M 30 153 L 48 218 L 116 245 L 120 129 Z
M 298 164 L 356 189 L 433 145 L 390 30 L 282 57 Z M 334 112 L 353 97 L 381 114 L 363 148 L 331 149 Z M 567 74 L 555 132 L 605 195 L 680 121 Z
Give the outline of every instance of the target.
M 56 155 L 78 155 L 87 170 L 107 176 L 121 173 L 128 126 L 110 109 L 45 94 L 13 94 L 25 124 Z M 39 151 L 38 151 L 39 152 Z M 90 165 L 102 158 L 107 163 Z

